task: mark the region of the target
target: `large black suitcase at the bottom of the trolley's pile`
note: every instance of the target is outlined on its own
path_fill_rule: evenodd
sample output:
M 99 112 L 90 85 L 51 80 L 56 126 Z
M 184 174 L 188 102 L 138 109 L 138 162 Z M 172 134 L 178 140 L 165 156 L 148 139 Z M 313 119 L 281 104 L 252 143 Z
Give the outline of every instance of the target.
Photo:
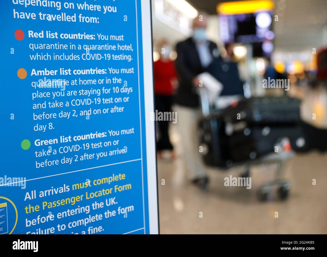
M 300 125 L 236 124 L 232 134 L 227 135 L 226 131 L 228 128 L 223 117 L 208 117 L 200 120 L 199 135 L 200 146 L 202 146 L 200 153 L 205 164 L 228 168 L 233 164 L 259 159 L 267 154 L 282 151 L 275 147 L 283 138 L 288 138 L 292 149 L 298 150 L 300 149 L 298 142 L 303 138 Z

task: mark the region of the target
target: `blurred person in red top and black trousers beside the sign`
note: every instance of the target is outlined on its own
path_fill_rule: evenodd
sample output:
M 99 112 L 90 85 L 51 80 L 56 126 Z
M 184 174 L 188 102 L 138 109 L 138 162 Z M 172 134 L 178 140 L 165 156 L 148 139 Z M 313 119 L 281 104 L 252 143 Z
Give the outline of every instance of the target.
M 154 69 L 154 92 L 155 107 L 159 112 L 171 112 L 173 102 L 174 85 L 177 83 L 175 64 L 169 59 L 171 46 L 167 41 L 159 43 L 160 59 L 153 64 Z M 157 141 L 158 158 L 163 157 L 165 150 L 170 151 L 170 157 L 175 158 L 173 145 L 168 135 L 169 120 L 158 121 L 159 140 Z

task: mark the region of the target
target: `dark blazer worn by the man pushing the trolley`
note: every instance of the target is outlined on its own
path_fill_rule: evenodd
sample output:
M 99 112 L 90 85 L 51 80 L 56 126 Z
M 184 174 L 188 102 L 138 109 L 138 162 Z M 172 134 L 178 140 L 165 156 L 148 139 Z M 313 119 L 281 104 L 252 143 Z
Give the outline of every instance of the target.
M 213 58 L 217 58 L 217 45 L 209 41 L 209 49 Z M 205 71 L 201 65 L 198 50 L 192 38 L 182 41 L 176 46 L 176 70 L 179 74 L 179 87 L 175 95 L 175 103 L 188 107 L 198 107 L 199 97 L 192 79 Z M 216 53 L 216 54 L 215 54 Z M 216 55 L 216 56 L 215 56 Z

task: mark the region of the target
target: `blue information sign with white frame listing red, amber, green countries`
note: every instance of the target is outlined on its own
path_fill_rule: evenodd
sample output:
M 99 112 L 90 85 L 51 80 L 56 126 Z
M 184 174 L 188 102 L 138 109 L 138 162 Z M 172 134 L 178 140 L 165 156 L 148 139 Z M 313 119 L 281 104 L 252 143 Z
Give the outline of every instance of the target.
M 150 2 L 0 13 L 0 234 L 158 233 Z

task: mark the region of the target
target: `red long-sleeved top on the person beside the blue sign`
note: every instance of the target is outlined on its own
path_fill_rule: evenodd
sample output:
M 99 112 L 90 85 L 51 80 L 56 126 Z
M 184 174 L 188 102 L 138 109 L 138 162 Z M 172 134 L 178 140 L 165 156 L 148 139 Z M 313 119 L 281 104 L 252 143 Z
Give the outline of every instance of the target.
M 174 88 L 172 80 L 176 79 L 174 62 L 159 60 L 153 64 L 154 70 L 154 93 L 156 95 L 172 95 Z

